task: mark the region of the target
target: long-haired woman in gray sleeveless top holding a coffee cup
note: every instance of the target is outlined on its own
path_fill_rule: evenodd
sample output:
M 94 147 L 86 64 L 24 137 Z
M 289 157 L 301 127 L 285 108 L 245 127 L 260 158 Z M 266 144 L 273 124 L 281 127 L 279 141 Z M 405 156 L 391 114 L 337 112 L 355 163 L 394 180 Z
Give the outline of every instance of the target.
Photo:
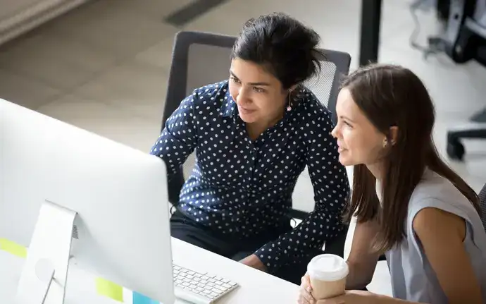
M 361 68 L 344 81 L 336 111 L 339 162 L 354 166 L 348 291 L 317 301 L 306 274 L 299 303 L 486 303 L 478 195 L 437 154 L 420 79 L 400 66 Z M 363 291 L 382 253 L 393 298 Z

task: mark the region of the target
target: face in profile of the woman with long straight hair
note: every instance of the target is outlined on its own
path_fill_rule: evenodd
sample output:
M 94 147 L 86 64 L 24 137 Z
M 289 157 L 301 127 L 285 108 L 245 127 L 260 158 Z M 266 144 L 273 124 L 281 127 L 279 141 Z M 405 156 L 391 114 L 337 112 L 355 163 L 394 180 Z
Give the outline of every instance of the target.
M 332 136 L 337 138 L 339 162 L 344 166 L 379 162 L 385 135 L 366 118 L 345 87 L 336 104 L 337 124 Z

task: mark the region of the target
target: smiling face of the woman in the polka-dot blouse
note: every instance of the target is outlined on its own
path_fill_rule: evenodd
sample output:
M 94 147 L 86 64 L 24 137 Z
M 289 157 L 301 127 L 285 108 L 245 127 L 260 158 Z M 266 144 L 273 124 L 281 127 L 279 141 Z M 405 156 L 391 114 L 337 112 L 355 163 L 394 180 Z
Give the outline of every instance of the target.
M 230 68 L 230 95 L 245 123 L 269 122 L 282 117 L 288 90 L 256 63 L 235 58 Z

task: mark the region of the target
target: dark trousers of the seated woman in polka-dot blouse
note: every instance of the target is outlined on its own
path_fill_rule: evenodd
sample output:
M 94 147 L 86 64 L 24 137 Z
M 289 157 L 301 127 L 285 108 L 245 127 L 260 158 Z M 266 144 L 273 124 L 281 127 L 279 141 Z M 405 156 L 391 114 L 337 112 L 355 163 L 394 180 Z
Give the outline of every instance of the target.
M 278 236 L 290 229 L 292 229 L 292 227 L 289 224 L 287 229 L 268 231 L 265 235 L 256 236 L 254 238 L 235 240 L 234 238 L 232 239 L 223 235 L 223 233 L 218 233 L 218 231 L 214 231 L 213 229 L 189 219 L 179 211 L 176 211 L 170 218 L 170 230 L 171 235 L 174 238 L 178 238 L 181 241 L 191 243 L 199 248 L 204 248 L 212 253 L 228 257 L 235 261 L 242 260 L 244 257 L 252 255 L 262 245 L 274 241 Z M 280 269 L 273 275 L 278 276 L 280 279 L 300 285 L 301 277 L 306 273 L 307 264 L 309 264 L 309 261 L 314 256 L 321 253 L 321 250 L 316 250 L 307 257 L 292 261 L 288 265 L 280 267 Z

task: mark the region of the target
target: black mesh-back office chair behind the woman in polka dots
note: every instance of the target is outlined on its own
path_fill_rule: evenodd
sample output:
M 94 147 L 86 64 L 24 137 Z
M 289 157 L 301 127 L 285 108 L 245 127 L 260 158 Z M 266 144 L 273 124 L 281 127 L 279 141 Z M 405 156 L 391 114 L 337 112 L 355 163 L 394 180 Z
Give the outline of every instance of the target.
M 191 95 L 194 89 L 229 78 L 230 54 L 235 40 L 236 37 L 207 32 L 182 31 L 175 35 L 161 131 L 180 102 Z M 340 51 L 323 50 L 323 53 L 325 58 L 321 61 L 320 75 L 305 85 L 332 111 L 332 121 L 336 122 L 335 107 L 340 78 L 347 75 L 351 56 Z M 173 207 L 179 202 L 185 171 L 194 166 L 193 155 L 187 159 L 184 168 L 168 181 L 168 196 Z M 189 171 L 186 171 L 187 174 Z M 307 212 L 291 209 L 288 216 L 289 219 L 302 220 Z M 337 238 L 326 242 L 325 252 L 343 256 L 346 236 L 347 227 Z

